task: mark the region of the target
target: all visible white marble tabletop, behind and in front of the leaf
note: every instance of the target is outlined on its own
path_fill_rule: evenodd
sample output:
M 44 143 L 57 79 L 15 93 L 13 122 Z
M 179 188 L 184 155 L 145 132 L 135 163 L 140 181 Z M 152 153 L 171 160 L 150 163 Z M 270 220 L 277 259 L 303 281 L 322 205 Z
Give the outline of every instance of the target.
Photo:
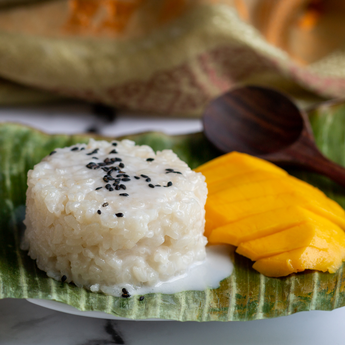
M 196 119 L 157 119 L 119 114 L 109 123 L 86 105 L 2 108 L 12 121 L 49 133 L 80 133 L 97 127 L 108 136 L 147 130 L 168 134 L 199 131 Z M 63 121 L 61 121 L 63 119 Z M 0 345 L 324 345 L 345 344 L 345 308 L 311 311 L 249 322 L 111 321 L 61 313 L 24 299 L 0 300 Z

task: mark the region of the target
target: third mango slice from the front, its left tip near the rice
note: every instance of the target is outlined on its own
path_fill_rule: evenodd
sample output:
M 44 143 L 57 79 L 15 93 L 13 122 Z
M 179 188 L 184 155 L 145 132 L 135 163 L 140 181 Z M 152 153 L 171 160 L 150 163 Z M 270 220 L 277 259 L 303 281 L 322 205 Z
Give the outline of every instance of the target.
M 288 206 L 251 215 L 215 228 L 209 235 L 208 242 L 210 244 L 223 242 L 238 246 L 241 242 L 277 233 L 306 220 L 335 226 L 326 218 L 303 207 Z

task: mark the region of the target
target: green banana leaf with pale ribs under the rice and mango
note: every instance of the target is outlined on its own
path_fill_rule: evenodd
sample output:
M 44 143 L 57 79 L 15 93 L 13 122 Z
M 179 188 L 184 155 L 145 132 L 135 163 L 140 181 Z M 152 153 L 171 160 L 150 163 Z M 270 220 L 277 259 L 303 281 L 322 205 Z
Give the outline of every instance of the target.
M 328 157 L 344 165 L 345 105 L 319 108 L 310 118 L 318 146 Z M 153 132 L 127 138 L 155 150 L 171 148 L 191 168 L 220 154 L 202 133 L 168 136 Z M 19 249 L 24 228 L 26 174 L 54 148 L 88 139 L 85 135 L 47 135 L 16 124 L 0 125 L 0 298 L 53 299 L 82 311 L 179 321 L 246 321 L 345 305 L 345 264 L 335 274 L 306 270 L 284 278 L 269 278 L 256 272 L 249 259 L 237 254 L 233 257 L 233 274 L 218 289 L 148 294 L 142 302 L 135 297 L 92 293 L 48 278 Z M 319 187 L 345 207 L 344 188 L 317 174 L 297 169 L 289 172 Z

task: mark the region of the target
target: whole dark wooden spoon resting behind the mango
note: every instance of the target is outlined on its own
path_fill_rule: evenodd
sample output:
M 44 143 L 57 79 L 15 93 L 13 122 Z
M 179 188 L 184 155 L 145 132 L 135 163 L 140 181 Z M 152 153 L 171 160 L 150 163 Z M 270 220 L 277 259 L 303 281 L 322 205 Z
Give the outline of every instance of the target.
M 345 187 L 345 169 L 321 154 L 307 114 L 280 92 L 246 86 L 225 93 L 206 108 L 204 131 L 223 152 L 307 168 Z

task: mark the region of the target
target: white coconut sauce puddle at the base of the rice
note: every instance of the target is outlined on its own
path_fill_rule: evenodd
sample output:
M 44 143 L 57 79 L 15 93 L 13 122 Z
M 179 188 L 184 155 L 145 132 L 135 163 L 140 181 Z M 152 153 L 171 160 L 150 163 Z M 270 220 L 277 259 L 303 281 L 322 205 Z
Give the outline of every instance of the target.
M 115 295 L 118 291 L 121 295 L 121 288 L 125 287 L 130 295 L 145 295 L 149 293 L 174 294 L 181 291 L 204 291 L 207 288 L 219 287 L 221 280 L 227 278 L 233 272 L 234 265 L 230 258 L 231 247 L 227 245 L 214 245 L 206 247 L 206 260 L 190 267 L 181 276 L 167 282 L 161 282 L 156 286 L 133 288 L 131 285 L 123 284 L 113 288 L 103 289 L 103 292 Z

